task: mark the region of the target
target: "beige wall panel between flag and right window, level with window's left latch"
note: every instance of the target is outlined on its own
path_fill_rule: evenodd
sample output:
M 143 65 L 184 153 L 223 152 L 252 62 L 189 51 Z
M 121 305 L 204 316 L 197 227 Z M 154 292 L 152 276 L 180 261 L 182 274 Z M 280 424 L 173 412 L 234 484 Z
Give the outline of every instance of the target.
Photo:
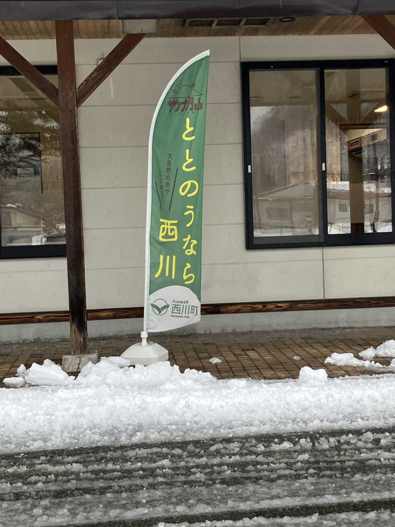
M 241 144 L 208 144 L 204 152 L 204 184 L 243 184 Z

